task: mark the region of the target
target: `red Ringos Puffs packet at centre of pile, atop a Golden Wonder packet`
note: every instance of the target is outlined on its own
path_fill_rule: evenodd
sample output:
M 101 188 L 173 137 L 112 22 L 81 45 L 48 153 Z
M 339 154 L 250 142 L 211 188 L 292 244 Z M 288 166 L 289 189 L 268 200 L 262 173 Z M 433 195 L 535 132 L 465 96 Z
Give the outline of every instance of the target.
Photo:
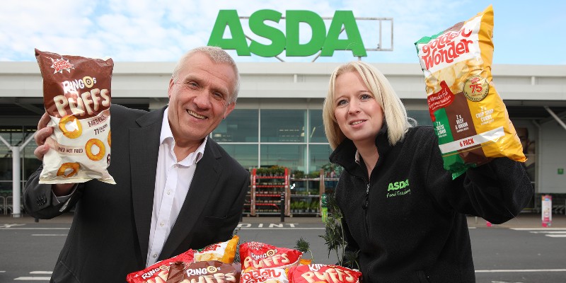
M 240 245 L 242 271 L 259 270 L 261 268 L 289 268 L 299 265 L 299 250 L 279 248 L 260 242 L 248 242 Z

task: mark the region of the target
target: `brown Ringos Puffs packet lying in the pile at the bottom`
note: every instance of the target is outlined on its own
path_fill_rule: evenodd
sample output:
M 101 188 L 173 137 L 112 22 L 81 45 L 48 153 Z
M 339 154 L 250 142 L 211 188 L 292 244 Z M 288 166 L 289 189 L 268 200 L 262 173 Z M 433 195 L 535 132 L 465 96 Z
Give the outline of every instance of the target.
M 238 263 L 226 264 L 218 260 L 173 262 L 167 283 L 237 283 L 241 269 Z

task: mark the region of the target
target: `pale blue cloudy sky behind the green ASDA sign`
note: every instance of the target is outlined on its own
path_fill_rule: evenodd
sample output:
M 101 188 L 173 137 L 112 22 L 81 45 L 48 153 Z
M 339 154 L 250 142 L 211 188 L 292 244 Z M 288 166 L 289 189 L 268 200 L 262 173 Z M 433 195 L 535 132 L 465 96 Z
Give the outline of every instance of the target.
M 255 11 L 270 9 L 283 16 L 286 11 L 307 10 L 328 18 L 335 11 L 352 11 L 356 18 L 393 18 L 381 25 L 382 46 L 393 51 L 370 51 L 362 60 L 419 64 L 415 41 L 466 21 L 490 4 L 495 14 L 494 64 L 566 65 L 563 0 L 4 0 L 0 10 L 0 61 L 35 61 L 37 48 L 59 54 L 112 57 L 115 62 L 175 62 L 187 50 L 207 45 L 219 10 L 236 10 L 238 16 L 249 17 Z M 240 22 L 245 35 L 262 44 L 270 43 L 250 31 L 247 19 Z M 324 21 L 327 30 L 330 22 Z M 286 30 L 284 19 L 267 24 Z M 376 47 L 379 22 L 358 20 L 357 25 L 365 47 Z M 299 25 L 299 34 L 301 43 L 308 42 L 311 29 Z M 224 38 L 231 38 L 229 29 Z M 238 56 L 233 50 L 229 53 L 236 62 L 279 62 L 275 57 Z M 357 59 L 351 51 L 336 51 L 333 57 L 287 57 L 283 52 L 278 57 L 284 62 Z

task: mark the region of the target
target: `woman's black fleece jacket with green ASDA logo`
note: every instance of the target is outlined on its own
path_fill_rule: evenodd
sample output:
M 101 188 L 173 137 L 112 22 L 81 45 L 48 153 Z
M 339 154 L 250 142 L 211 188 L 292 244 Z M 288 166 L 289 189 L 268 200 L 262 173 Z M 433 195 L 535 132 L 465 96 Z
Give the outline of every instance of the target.
M 466 214 L 494 224 L 519 214 L 533 195 L 523 164 L 495 158 L 452 180 L 432 127 L 391 146 L 383 126 L 376 146 L 371 178 L 350 139 L 330 155 L 345 169 L 335 194 L 363 282 L 475 282 Z

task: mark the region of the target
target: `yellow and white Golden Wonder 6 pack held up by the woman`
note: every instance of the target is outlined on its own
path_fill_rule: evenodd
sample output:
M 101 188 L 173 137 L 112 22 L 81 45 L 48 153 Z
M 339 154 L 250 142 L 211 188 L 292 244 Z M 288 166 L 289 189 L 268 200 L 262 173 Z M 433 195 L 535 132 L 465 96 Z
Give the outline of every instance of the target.
M 444 168 L 458 177 L 492 158 L 526 161 L 492 82 L 493 8 L 415 42 Z

